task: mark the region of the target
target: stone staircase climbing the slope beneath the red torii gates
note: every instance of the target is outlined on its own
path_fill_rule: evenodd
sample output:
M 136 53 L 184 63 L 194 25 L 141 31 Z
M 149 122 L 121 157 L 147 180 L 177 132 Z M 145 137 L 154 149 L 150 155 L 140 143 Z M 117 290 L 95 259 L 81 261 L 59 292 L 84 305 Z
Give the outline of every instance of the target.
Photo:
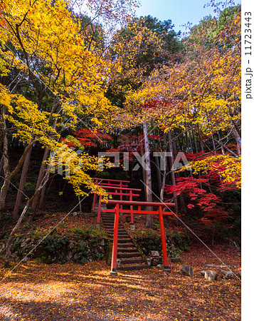
M 115 215 L 102 213 L 102 223 L 105 227 L 110 241 L 113 243 Z M 117 260 L 120 260 L 120 267 L 117 270 L 142 270 L 148 268 L 139 250 L 132 243 L 123 225 L 118 225 Z

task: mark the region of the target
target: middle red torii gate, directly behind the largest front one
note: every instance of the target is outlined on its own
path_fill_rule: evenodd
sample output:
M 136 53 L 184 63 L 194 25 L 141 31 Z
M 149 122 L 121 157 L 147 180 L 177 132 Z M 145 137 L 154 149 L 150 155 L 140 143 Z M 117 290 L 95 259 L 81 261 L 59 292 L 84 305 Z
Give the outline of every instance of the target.
M 105 188 L 107 190 L 115 190 L 115 192 L 109 192 L 111 195 L 120 195 L 120 201 L 122 201 L 122 196 L 129 196 L 129 201 L 132 202 L 133 196 L 139 196 L 139 194 L 134 194 L 133 192 L 141 192 L 141 189 L 139 188 L 120 188 L 120 187 L 114 187 L 114 186 L 104 186 L 100 185 L 101 188 Z M 120 192 L 118 192 L 120 190 Z M 129 193 L 122 193 L 123 191 L 129 192 Z M 101 212 L 101 200 L 102 196 L 99 197 L 99 205 L 98 205 L 98 212 L 97 212 L 97 224 L 100 224 L 100 212 Z M 121 206 L 122 210 L 122 206 Z M 110 210 L 108 208 L 103 209 L 103 212 L 112 213 L 114 210 Z M 122 213 L 130 213 L 130 223 L 134 225 L 133 220 L 133 206 L 130 205 L 130 210 L 125 210 L 125 212 Z

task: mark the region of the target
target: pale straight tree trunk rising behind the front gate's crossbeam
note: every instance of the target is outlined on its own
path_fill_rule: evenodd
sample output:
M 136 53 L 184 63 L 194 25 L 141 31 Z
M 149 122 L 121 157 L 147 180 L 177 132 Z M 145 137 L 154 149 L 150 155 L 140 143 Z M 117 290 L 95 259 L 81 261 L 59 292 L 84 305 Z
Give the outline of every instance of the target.
M 150 153 L 149 153 L 149 140 L 148 140 L 148 132 L 147 132 L 147 123 L 143 124 L 143 130 L 144 130 L 144 153 L 147 153 L 147 169 L 145 170 L 146 174 L 146 195 L 147 195 L 147 202 L 152 202 L 152 174 L 151 174 L 151 160 L 150 160 Z M 147 210 L 152 210 L 151 207 L 147 207 Z M 152 215 L 147 214 L 147 228 L 152 228 Z

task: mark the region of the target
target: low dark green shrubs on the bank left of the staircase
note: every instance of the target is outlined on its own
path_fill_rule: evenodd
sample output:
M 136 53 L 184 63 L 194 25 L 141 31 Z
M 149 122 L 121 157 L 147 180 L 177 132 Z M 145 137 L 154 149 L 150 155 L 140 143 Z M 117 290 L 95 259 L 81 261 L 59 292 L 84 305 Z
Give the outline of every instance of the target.
M 3 240 L 8 236 L 8 233 L 1 233 L 0 239 Z M 104 238 L 105 232 L 98 230 L 95 226 L 85 228 L 83 225 L 69 229 L 65 235 L 52 233 L 48 236 L 43 229 L 36 228 L 29 233 L 26 232 L 26 236 L 17 233 L 11 252 L 21 259 L 34 249 L 29 258 L 33 258 L 36 264 L 65 263 L 66 260 L 73 259 L 77 263 L 85 263 L 105 258 L 107 243 L 105 246 L 100 245 Z M 42 240 L 41 243 L 40 240 Z M 38 246 L 35 248 L 36 244 Z M 70 253 L 72 255 L 68 258 Z

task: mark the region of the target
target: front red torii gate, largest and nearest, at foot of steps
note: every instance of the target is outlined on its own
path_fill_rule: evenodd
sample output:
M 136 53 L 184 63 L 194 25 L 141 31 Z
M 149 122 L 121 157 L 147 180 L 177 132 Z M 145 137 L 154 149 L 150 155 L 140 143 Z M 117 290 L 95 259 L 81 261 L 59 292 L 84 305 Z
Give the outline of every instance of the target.
M 106 203 L 106 201 L 105 201 Z M 166 237 L 164 230 L 164 221 L 163 215 L 173 215 L 172 212 L 163 212 L 162 208 L 174 208 L 175 203 L 154 203 L 154 202 L 134 202 L 129 200 L 107 200 L 107 204 L 115 205 L 115 209 L 112 209 L 112 212 L 115 212 L 115 224 L 114 224 L 114 238 L 113 238 L 113 248 L 112 248 L 112 261 L 111 261 L 111 271 L 110 275 L 117 275 L 117 241 L 118 241 L 118 223 L 119 223 L 119 214 L 120 213 L 132 213 L 132 214 L 155 214 L 159 215 L 159 225 L 161 230 L 162 238 L 162 254 L 163 254 L 163 264 L 164 271 L 170 272 L 169 260 L 166 253 Z M 122 210 L 120 205 L 132 205 L 137 206 L 137 210 Z M 151 206 L 157 207 L 157 210 L 141 210 L 142 206 Z

